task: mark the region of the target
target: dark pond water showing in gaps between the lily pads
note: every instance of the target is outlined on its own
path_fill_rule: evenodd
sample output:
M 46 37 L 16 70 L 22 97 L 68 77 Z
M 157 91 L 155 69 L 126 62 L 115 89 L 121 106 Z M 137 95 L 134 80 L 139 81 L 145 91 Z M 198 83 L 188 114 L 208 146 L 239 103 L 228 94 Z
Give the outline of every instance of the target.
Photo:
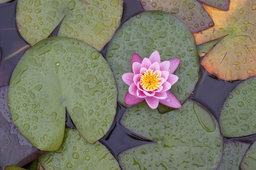
M 29 46 L 22 40 L 15 22 L 15 9 L 17 0 L 0 5 L 0 87 L 8 85 L 12 70 L 15 68 L 20 57 Z M 124 0 L 124 14 L 121 23 L 124 23 L 130 17 L 142 12 L 138 0 Z M 58 33 L 58 27 L 51 36 Z M 106 46 L 107 47 L 107 46 Z M 101 53 L 106 56 L 106 47 Z M 16 52 L 19 50 L 18 52 Z M 200 79 L 191 99 L 203 105 L 214 117 L 218 119 L 222 103 L 227 95 L 240 82 L 226 82 L 217 80 L 209 75 L 202 67 L 200 68 Z M 115 121 L 109 132 L 100 140 L 111 153 L 117 158 L 118 154 L 135 146 L 152 142 L 142 136 L 132 133 L 119 124 L 125 108 L 119 106 Z M 66 125 L 75 128 L 68 113 Z M 236 138 L 246 142 L 254 142 L 256 135 Z M 14 153 L 15 154 L 15 153 Z

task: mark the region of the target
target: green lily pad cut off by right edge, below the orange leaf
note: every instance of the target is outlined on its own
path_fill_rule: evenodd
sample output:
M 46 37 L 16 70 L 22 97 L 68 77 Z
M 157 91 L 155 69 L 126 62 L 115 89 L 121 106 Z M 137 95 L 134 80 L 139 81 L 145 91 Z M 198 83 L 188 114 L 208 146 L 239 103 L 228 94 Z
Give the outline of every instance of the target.
M 219 121 L 223 136 L 256 134 L 256 78 L 242 82 L 229 94 Z

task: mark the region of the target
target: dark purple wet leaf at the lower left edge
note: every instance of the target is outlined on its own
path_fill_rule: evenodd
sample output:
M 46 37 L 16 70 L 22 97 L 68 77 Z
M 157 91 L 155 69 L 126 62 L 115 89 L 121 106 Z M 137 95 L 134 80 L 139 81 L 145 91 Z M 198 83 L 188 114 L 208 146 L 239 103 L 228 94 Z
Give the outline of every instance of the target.
M 7 91 L 7 86 L 0 88 L 0 170 L 7 165 L 24 166 L 44 153 L 34 148 L 14 125 Z

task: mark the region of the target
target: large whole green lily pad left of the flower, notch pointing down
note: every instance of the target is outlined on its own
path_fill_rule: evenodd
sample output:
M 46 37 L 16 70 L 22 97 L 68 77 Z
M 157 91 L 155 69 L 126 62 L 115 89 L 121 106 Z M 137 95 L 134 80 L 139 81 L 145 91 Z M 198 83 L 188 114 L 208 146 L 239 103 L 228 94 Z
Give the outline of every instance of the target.
M 12 118 L 35 147 L 59 148 L 65 107 L 90 143 L 110 128 L 117 110 L 117 87 L 103 56 L 72 38 L 52 37 L 32 46 L 14 69 L 8 91 Z

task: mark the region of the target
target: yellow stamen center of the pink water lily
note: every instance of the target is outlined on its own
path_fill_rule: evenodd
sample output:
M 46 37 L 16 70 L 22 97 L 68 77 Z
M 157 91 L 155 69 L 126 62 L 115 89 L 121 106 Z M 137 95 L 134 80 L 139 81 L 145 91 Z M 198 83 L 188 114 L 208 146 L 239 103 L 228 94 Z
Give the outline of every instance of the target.
M 148 91 L 158 89 L 161 85 L 160 80 L 161 78 L 159 77 L 159 74 L 154 70 L 151 70 L 150 72 L 147 70 L 140 75 L 140 85 Z

